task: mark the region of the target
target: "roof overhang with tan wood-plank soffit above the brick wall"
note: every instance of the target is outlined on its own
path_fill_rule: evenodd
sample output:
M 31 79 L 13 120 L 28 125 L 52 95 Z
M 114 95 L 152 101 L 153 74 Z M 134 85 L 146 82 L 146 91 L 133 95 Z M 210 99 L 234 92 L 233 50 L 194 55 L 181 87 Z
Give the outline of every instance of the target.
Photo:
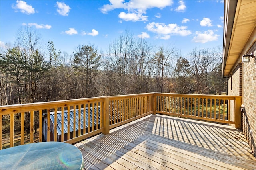
M 222 75 L 232 74 L 256 41 L 256 0 L 225 0 Z

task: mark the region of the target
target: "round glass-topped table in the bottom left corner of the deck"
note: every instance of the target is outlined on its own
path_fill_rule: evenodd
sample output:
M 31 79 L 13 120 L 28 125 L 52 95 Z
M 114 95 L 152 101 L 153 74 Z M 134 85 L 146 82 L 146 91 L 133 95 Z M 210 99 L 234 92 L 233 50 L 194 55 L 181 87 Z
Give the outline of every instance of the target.
M 40 142 L 0 150 L 0 170 L 80 170 L 83 156 L 74 145 Z

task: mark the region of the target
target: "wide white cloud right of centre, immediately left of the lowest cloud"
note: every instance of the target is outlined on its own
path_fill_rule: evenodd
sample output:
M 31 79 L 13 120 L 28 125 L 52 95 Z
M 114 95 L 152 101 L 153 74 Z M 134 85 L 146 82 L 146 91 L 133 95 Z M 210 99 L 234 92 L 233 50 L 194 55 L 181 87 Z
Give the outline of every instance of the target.
M 187 36 L 191 34 L 191 31 L 187 30 L 188 27 L 186 26 L 178 26 L 177 24 L 168 24 L 165 25 L 164 23 L 148 23 L 146 29 L 153 33 L 158 34 L 157 38 L 160 39 L 169 39 L 171 35 L 181 35 Z

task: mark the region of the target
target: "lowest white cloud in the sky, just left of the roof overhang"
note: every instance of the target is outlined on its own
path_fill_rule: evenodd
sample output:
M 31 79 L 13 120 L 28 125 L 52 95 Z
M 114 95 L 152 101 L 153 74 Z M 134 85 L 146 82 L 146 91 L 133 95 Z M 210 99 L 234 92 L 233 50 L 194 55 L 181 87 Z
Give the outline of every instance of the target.
M 214 34 L 212 30 L 204 31 L 203 33 L 196 31 L 196 36 L 192 39 L 192 41 L 204 44 L 209 41 L 217 41 L 219 36 L 220 35 Z

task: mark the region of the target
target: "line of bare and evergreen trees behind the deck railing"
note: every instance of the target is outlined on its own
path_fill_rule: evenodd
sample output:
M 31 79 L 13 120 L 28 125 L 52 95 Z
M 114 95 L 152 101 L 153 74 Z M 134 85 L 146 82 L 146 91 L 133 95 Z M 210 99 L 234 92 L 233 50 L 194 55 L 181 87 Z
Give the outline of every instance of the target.
M 154 47 L 125 31 L 106 52 L 79 45 L 72 54 L 47 49 L 30 27 L 0 53 L 0 105 L 94 96 L 170 92 L 222 94 L 222 49 L 193 49 L 186 57 L 174 45 Z

